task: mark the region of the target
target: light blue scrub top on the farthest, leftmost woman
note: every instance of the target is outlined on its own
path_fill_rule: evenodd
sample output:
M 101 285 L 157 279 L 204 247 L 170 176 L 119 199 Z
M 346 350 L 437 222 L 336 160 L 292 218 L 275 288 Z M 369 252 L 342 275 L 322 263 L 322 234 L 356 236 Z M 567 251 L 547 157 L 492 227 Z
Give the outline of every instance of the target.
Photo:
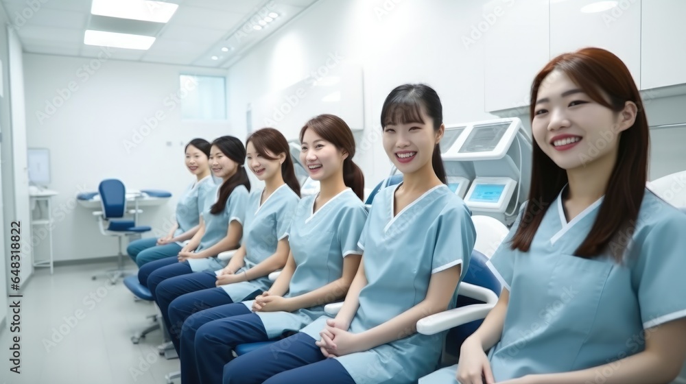
M 205 176 L 202 180 L 193 182 L 184 191 L 176 204 L 176 223 L 178 228 L 174 237 L 181 235 L 195 227 L 200 222 L 200 213 L 215 199 L 216 185 L 211 176 Z

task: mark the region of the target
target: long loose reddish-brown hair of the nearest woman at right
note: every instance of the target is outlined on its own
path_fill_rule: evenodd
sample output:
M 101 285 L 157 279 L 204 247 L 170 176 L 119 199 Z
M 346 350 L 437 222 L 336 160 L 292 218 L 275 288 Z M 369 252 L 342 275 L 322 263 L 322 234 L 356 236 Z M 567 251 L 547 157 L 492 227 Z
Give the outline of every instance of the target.
M 554 58 L 536 75 L 531 87 L 531 121 L 541 82 L 552 71 L 565 73 L 593 101 L 615 112 L 623 110 L 626 101 L 638 107 L 634 124 L 619 135 L 617 161 L 605 191 L 611 198 L 602 201 L 593 228 L 575 252 L 591 259 L 609 248 L 615 260 L 622 261 L 627 244 L 619 240 L 620 232 L 630 230 L 639 215 L 648 173 L 648 119 L 641 95 L 622 60 L 604 49 L 584 48 Z M 546 156 L 536 141 L 533 147 L 529 202 L 511 244 L 513 250 L 522 252 L 529 250 L 543 215 L 567 183 L 567 171 Z

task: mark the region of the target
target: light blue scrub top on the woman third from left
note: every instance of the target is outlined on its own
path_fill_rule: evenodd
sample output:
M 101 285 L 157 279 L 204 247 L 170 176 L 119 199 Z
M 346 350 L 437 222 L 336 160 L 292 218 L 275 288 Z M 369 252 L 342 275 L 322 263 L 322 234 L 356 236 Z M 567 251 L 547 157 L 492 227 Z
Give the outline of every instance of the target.
M 276 252 L 281 239 L 288 236 L 287 230 L 300 197 L 283 184 L 260 205 L 263 189 L 250 193 L 246 206 L 246 223 L 243 239 L 246 245 L 246 265 L 236 271 L 241 274 L 265 261 Z M 268 276 L 241 283 L 222 285 L 233 302 L 241 302 L 255 291 L 266 291 L 272 285 Z

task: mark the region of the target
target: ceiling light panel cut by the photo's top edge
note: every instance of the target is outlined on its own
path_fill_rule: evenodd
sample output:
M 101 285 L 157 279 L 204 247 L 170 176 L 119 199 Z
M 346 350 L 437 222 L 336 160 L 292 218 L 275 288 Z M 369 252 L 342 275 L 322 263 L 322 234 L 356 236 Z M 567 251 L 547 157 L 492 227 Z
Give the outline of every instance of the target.
M 117 17 L 167 23 L 176 12 L 178 4 L 150 0 L 93 0 L 91 13 L 99 16 Z

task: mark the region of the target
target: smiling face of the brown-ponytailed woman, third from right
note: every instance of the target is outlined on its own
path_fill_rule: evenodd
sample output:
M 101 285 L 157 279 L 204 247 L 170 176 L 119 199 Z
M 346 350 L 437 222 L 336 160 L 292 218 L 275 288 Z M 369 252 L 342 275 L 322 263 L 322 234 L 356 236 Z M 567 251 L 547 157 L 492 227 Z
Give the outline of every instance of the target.
M 322 139 L 314 130 L 307 129 L 300 143 L 300 163 L 312 180 L 326 180 L 343 171 L 343 160 L 348 157 L 335 145 Z

